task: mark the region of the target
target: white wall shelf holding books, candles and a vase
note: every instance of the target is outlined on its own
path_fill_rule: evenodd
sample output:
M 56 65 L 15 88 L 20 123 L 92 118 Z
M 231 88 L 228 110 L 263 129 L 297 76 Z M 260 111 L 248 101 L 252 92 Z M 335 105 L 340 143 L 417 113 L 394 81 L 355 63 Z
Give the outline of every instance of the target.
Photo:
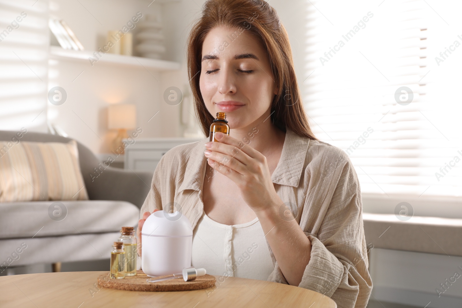
M 96 60 L 94 51 L 87 50 L 70 50 L 63 49 L 58 46 L 50 46 L 50 59 L 56 60 L 79 60 L 86 61 L 87 64 L 91 65 L 89 58 Z M 99 63 L 111 63 L 116 65 L 126 66 L 139 66 L 156 69 L 158 71 L 173 71 L 180 69 L 180 63 L 166 60 L 157 60 L 150 58 L 134 57 L 123 54 L 109 54 L 101 53 L 101 57 L 97 62 L 93 62 L 93 66 Z

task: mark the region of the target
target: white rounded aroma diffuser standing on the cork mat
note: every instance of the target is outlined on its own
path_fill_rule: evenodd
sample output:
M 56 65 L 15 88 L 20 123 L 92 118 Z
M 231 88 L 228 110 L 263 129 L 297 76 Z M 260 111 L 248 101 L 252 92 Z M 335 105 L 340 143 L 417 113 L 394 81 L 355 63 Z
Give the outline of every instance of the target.
M 191 266 L 193 229 L 179 211 L 155 211 L 147 217 L 141 244 L 141 267 L 147 276 L 169 275 Z

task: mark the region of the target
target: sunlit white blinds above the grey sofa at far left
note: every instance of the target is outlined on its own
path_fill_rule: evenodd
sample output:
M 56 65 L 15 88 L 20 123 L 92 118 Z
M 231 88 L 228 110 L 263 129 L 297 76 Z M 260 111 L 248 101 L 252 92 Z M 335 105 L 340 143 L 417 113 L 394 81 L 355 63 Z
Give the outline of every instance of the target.
M 0 1 L 0 129 L 46 131 L 48 1 Z

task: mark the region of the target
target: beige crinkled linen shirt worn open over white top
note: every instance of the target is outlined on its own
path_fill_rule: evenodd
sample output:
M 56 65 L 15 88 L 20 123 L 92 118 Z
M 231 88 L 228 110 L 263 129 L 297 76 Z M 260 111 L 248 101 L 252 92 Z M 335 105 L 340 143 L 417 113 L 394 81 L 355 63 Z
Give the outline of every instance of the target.
M 163 207 L 169 211 L 174 205 L 195 228 L 204 208 L 207 141 L 178 145 L 164 154 L 154 171 L 140 218 L 145 211 Z M 345 151 L 287 129 L 271 180 L 312 245 L 298 287 L 329 296 L 339 308 L 366 307 L 372 281 L 367 269 L 361 191 Z M 267 245 L 275 264 L 267 280 L 288 284 Z M 138 261 L 141 264 L 140 258 Z

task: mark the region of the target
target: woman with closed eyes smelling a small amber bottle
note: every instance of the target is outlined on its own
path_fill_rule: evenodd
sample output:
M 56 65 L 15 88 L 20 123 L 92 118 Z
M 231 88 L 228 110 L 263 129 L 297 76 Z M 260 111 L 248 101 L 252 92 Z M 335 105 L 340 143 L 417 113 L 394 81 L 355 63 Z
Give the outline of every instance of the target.
M 207 1 L 189 35 L 188 73 L 204 134 L 225 112 L 230 135 L 164 154 L 139 240 L 152 211 L 173 207 L 193 227 L 192 266 L 365 307 L 372 282 L 358 178 L 346 153 L 310 130 L 274 9 L 263 0 Z

